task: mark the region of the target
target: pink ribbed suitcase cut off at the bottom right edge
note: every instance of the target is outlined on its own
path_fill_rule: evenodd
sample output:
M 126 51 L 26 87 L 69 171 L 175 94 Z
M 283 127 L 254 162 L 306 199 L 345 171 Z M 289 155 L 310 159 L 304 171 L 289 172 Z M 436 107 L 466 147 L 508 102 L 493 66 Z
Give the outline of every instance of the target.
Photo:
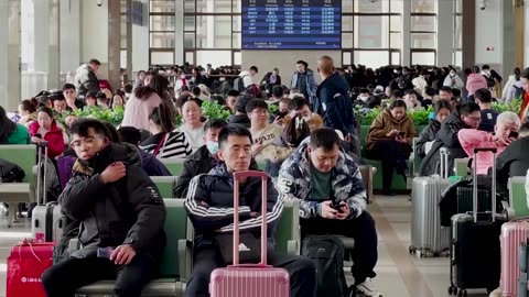
M 518 250 L 529 237 L 529 218 L 518 218 L 501 226 L 501 277 L 500 287 L 503 297 L 518 296 Z

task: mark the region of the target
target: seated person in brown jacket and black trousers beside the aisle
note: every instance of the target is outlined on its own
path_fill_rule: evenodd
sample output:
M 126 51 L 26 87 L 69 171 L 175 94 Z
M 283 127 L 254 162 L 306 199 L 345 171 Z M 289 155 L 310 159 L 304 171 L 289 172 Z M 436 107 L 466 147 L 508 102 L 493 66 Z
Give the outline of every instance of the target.
M 413 120 L 406 110 L 403 100 L 395 100 L 375 119 L 367 134 L 368 157 L 382 162 L 382 190 L 388 196 L 395 196 L 391 183 L 396 169 L 406 180 L 406 160 L 415 136 Z

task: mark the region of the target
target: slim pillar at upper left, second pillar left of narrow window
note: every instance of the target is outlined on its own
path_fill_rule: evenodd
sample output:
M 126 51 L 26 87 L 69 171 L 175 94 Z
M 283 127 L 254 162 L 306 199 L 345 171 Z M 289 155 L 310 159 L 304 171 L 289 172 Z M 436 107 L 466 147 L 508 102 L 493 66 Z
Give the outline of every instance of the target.
M 108 1 L 108 82 L 121 87 L 121 3 Z

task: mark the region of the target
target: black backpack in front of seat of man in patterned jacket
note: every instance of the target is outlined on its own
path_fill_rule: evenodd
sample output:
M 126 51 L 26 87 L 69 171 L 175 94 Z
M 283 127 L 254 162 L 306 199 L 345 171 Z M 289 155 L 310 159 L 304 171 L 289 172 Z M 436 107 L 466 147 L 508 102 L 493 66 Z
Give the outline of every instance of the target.
M 309 235 L 301 246 L 301 254 L 316 263 L 316 296 L 348 296 L 344 274 L 344 243 L 333 235 Z

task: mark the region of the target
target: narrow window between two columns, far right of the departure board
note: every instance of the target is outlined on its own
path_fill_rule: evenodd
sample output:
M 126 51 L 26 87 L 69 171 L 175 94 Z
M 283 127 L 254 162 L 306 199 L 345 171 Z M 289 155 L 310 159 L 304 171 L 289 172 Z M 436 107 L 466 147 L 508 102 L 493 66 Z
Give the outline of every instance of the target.
M 411 0 L 411 64 L 435 65 L 438 0 Z

